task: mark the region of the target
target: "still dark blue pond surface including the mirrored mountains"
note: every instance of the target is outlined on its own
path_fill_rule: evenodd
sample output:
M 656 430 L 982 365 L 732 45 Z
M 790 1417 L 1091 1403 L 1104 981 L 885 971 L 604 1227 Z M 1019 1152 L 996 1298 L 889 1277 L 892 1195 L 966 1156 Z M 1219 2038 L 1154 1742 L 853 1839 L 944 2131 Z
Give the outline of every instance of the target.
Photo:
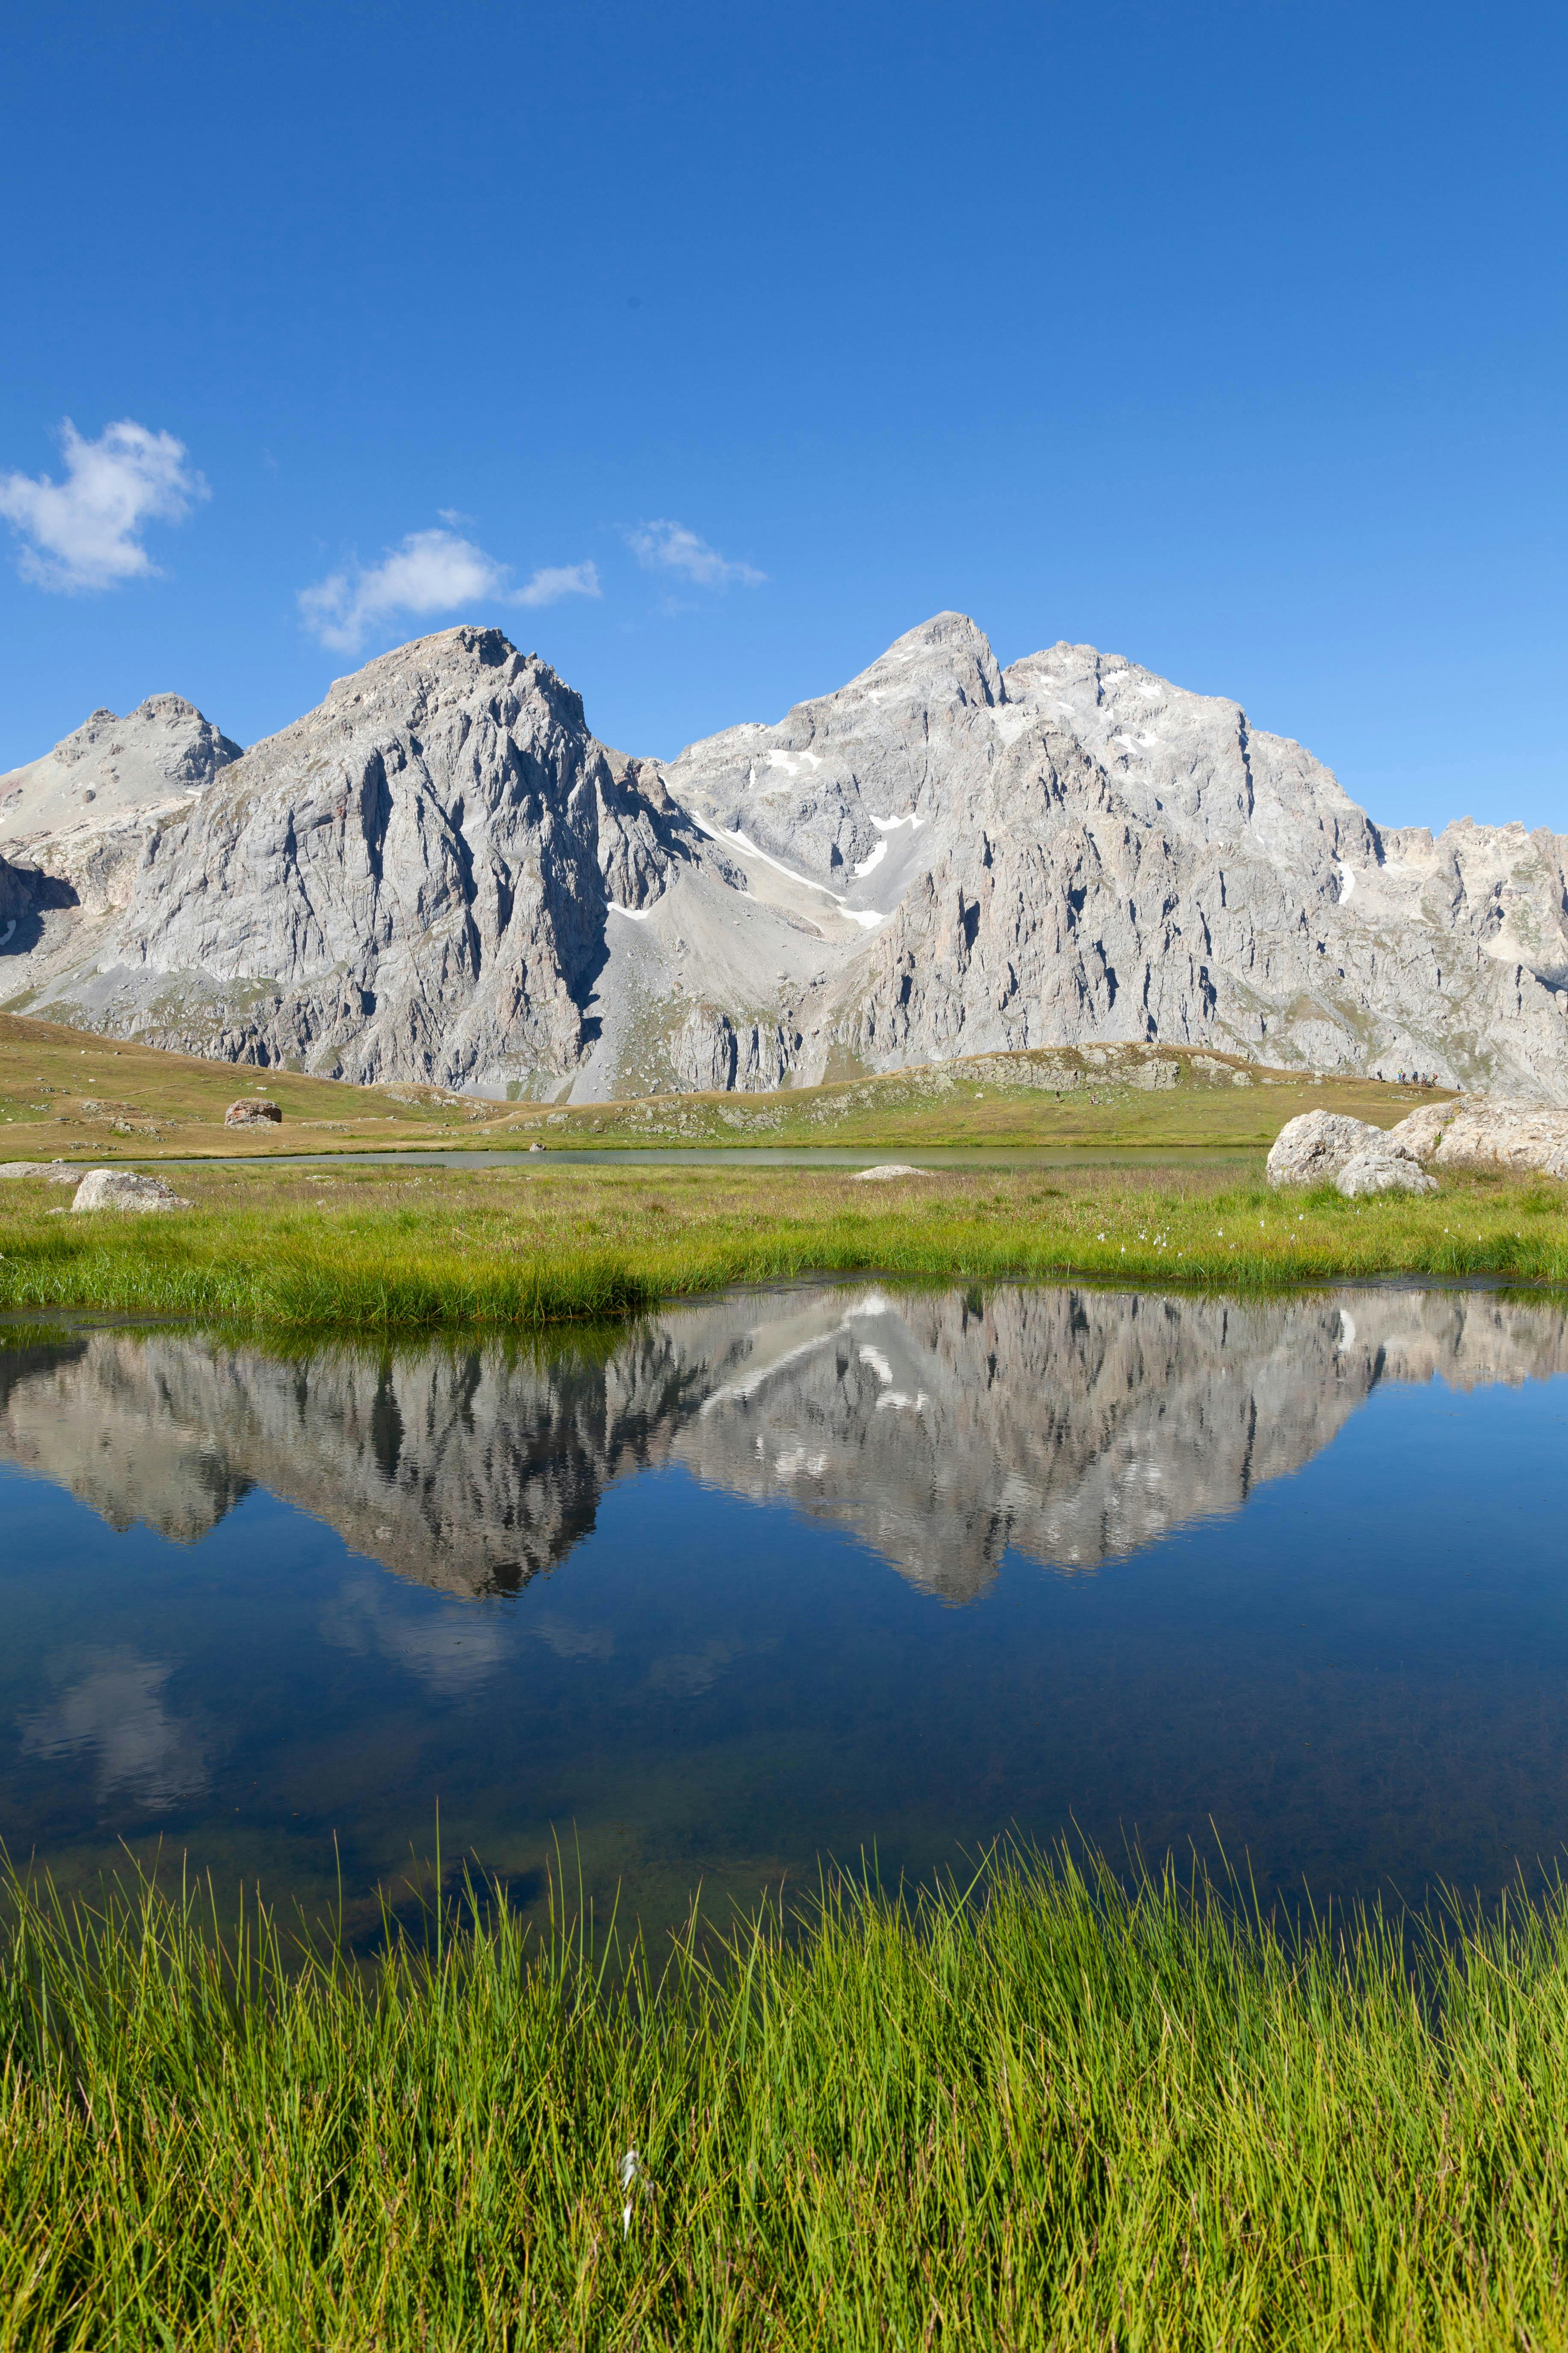
M 1568 1845 L 1568 1311 L 792 1287 L 529 1346 L 0 1329 L 0 1835 L 675 1920 L 875 1849 Z M 336 1842 L 336 1845 L 334 1845 Z

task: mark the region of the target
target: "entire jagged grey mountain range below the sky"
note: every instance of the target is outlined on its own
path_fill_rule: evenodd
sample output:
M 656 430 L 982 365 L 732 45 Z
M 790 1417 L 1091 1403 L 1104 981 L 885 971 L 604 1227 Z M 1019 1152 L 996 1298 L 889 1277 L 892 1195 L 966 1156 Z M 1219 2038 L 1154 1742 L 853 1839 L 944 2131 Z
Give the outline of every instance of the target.
M 0 776 L 0 1007 L 494 1099 L 1159 1040 L 1568 1104 L 1568 835 L 1380 828 L 1239 704 L 952 612 L 670 762 L 449 628 L 249 751 L 155 694 Z

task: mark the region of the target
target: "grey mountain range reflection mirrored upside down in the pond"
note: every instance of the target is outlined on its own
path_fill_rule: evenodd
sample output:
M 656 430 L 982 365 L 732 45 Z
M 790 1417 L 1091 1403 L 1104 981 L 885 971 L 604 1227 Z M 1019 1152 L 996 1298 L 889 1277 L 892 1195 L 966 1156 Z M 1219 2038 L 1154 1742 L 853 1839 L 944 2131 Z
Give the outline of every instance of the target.
M 611 1482 L 682 1466 L 961 1605 L 1009 1551 L 1095 1569 L 1239 1511 L 1380 1384 L 1566 1369 L 1563 1308 L 1488 1292 L 783 1289 L 538 1348 L 61 1337 L 0 1353 L 0 1457 L 176 1544 L 261 1487 L 475 1598 L 567 1560 Z

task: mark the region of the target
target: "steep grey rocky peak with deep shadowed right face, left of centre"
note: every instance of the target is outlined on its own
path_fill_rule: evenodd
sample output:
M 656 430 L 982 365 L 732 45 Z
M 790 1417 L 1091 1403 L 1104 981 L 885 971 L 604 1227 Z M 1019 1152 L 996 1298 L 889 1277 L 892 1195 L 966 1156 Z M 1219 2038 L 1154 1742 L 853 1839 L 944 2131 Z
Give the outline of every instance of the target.
M 531 1082 L 576 1068 L 611 906 L 701 838 L 498 631 L 341 680 L 132 842 L 78 845 L 96 920 L 31 1009 L 341 1078 Z

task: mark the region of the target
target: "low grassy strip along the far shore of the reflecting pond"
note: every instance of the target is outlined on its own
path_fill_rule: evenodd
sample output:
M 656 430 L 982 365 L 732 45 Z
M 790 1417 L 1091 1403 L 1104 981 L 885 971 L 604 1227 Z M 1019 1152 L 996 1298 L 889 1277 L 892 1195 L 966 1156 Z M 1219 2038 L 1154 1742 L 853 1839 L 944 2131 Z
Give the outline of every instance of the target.
M 804 1273 L 1291 1285 L 1568 1282 L 1568 1188 L 1448 1179 L 1436 1198 L 1269 1193 L 1260 1174 L 813 1169 L 181 1169 L 188 1212 L 52 1217 L 0 1193 L 0 1306 L 254 1325 L 538 1325 Z

